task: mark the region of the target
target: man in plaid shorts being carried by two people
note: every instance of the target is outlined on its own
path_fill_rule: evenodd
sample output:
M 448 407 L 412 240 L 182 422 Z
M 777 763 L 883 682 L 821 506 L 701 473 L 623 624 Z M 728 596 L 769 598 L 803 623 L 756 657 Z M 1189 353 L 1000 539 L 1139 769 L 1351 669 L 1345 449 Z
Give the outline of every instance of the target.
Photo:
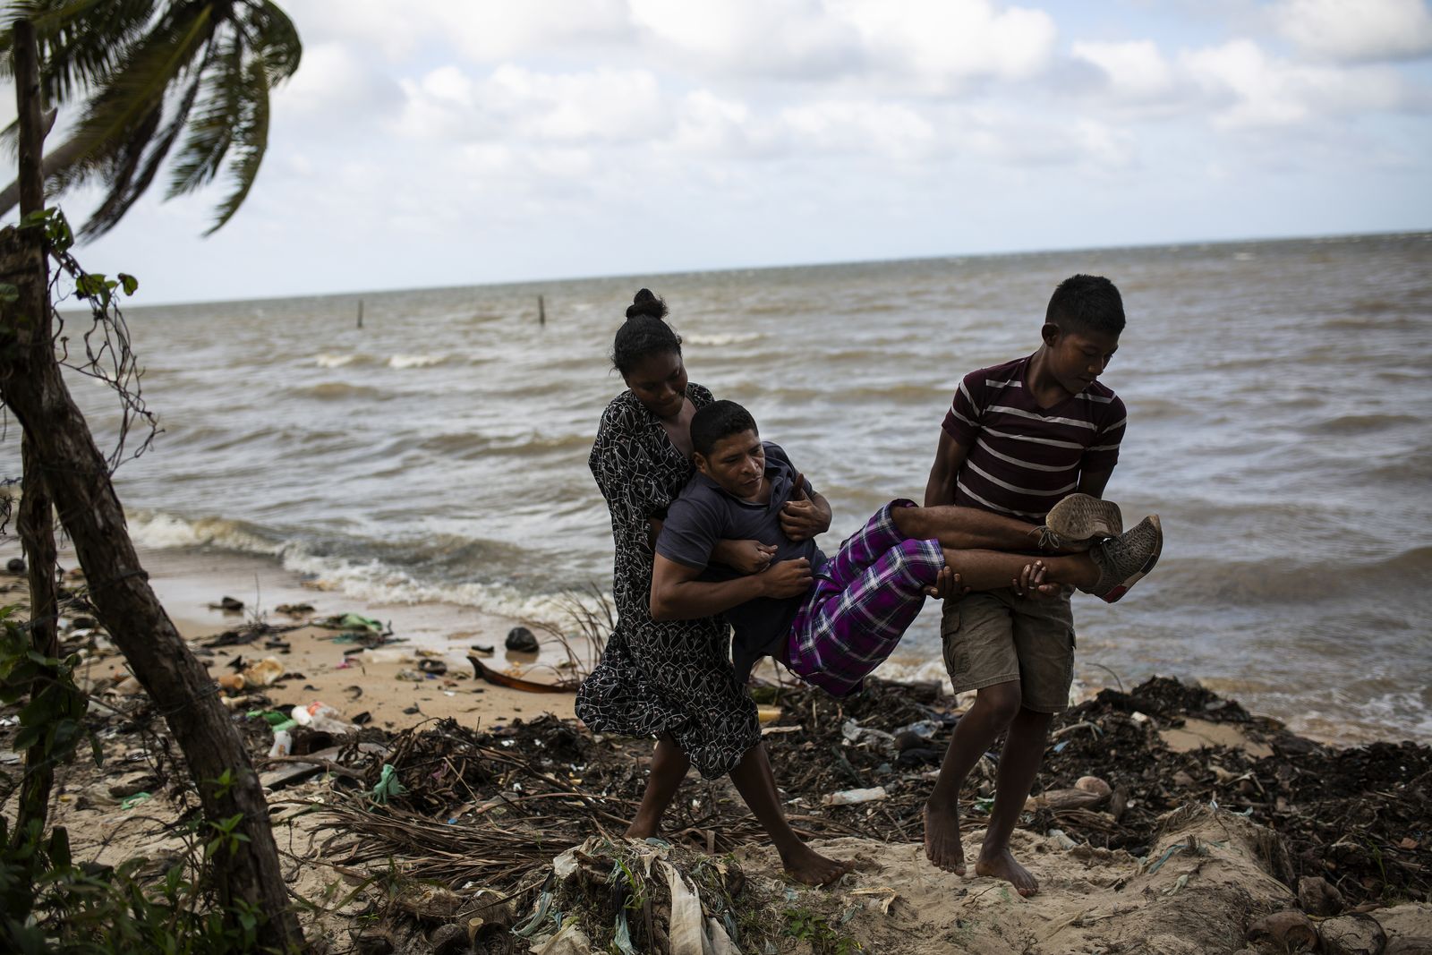
M 736 631 L 733 657 L 742 683 L 769 654 L 808 683 L 846 696 L 889 656 L 929 593 L 945 596 L 958 586 L 994 590 L 1022 580 L 1044 591 L 1070 586 L 1108 596 L 1131 586 L 1158 558 L 1156 517 L 1087 553 L 1031 560 L 969 548 L 1011 540 L 1030 546 L 1032 525 L 905 500 L 882 507 L 826 558 L 813 540 L 793 541 L 782 533 L 780 514 L 790 501 L 822 498 L 779 445 L 760 441 L 745 408 L 712 402 L 692 418 L 690 434 L 697 474 L 672 503 L 656 541 L 652 617 L 726 614 Z M 1060 528 L 1065 544 L 1091 535 L 1081 515 L 1074 517 Z M 723 538 L 775 548 L 770 564 L 748 576 L 712 564 Z M 653 820 L 676 786 L 656 789 L 670 795 L 657 800 L 663 805 L 643 802 Z

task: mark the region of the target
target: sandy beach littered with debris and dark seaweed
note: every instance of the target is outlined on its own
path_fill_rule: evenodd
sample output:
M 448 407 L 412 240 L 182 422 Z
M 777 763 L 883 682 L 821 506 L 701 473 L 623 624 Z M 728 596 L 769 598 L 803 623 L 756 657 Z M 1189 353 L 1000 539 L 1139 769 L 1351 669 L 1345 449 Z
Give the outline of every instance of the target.
M 758 699 L 770 709 L 763 733 L 786 812 L 822 852 L 858 863 L 838 885 L 811 889 L 782 876 L 727 780 L 683 783 L 669 842 L 620 839 L 650 742 L 591 736 L 571 719 L 570 693 L 478 679 L 474 646 L 494 647 L 480 659 L 511 676 L 571 673 L 547 634 L 538 654 L 505 651 L 518 620 L 358 601 L 226 551 L 149 551 L 143 561 L 216 679 L 265 657 L 282 670 L 228 696 L 268 780 L 316 951 L 607 951 L 626 924 L 609 882 L 620 866 L 647 872 L 646 888 L 629 891 L 654 912 L 629 929 L 633 951 L 1270 954 L 1309 938 L 1326 952 L 1432 951 L 1426 747 L 1339 750 L 1176 680 L 1091 689 L 1060 717 L 1015 833 L 1042 885 L 1021 899 L 1002 882 L 937 869 L 919 845 L 922 800 L 964 700 L 937 683 L 875 680 L 843 702 L 766 687 Z M 23 597 L 23 581 L 6 577 L 0 591 Z M 243 609 L 221 609 L 225 597 Z M 279 610 L 298 604 L 311 610 Z M 316 623 L 344 614 L 391 634 L 359 650 L 344 639 L 349 629 Z M 72 644 L 103 644 L 73 620 L 67 629 Z M 53 823 L 70 829 L 79 858 L 182 858 L 175 820 L 189 783 L 162 720 L 127 689 L 117 654 L 95 654 L 80 676 L 102 702 L 92 713 L 107 762 L 62 769 Z M 292 759 L 314 752 L 318 762 L 268 759 L 274 735 L 261 713 L 312 703 L 361 729 L 295 727 Z M 928 743 L 896 743 L 912 727 Z M 13 732 L 13 719 L 0 720 L 9 763 Z M 372 793 L 388 772 L 401 795 L 379 805 Z M 1080 790 L 1091 777 L 1103 787 Z M 967 846 L 982 838 L 992 783 L 988 772 L 971 777 Z M 1309 886 L 1323 883 L 1340 886 L 1337 901 L 1313 911 Z M 683 908 L 686 892 L 695 902 Z M 543 915 L 548 905 L 566 912 L 560 925 Z M 705 915 L 690 922 L 692 912 Z M 706 941 L 683 949 L 682 932 Z M 1353 946 L 1369 935 L 1380 941 Z

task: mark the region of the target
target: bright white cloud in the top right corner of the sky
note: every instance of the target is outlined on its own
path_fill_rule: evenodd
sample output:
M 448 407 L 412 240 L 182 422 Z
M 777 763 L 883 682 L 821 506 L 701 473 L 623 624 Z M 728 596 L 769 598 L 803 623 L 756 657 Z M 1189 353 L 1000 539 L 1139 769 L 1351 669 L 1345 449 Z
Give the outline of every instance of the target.
M 1319 57 L 1366 63 L 1432 54 L 1432 11 L 1423 0 L 1283 0 L 1274 24 Z

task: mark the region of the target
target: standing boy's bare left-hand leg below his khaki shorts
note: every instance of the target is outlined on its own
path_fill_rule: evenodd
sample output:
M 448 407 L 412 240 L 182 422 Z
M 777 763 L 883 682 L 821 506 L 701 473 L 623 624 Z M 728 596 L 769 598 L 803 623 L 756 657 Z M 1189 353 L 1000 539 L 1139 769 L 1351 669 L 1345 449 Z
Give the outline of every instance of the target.
M 959 839 L 959 789 L 995 737 L 1020 713 L 1020 700 L 1018 680 L 981 687 L 975 693 L 974 706 L 955 723 L 945 762 L 939 766 L 939 777 L 925 802 L 925 855 L 941 869 L 965 873 L 965 850 Z M 1020 805 L 1024 806 L 1022 798 Z

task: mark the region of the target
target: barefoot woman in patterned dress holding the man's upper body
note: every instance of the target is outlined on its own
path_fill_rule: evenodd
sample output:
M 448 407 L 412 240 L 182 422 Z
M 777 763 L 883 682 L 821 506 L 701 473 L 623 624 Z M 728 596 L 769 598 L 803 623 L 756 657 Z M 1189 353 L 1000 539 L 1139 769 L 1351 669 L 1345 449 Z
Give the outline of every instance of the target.
M 693 471 L 692 415 L 712 401 L 706 388 L 687 381 L 682 339 L 664 316 L 666 304 L 642 289 L 613 346 L 611 362 L 627 391 L 603 412 L 589 465 L 611 513 L 617 626 L 577 693 L 577 716 L 593 732 L 657 737 L 652 776 L 627 836 L 657 833 L 662 813 L 695 765 L 705 777 L 730 773 L 786 871 L 825 883 L 848 866 L 800 842 L 780 812 L 756 707 L 730 666 L 726 621 L 652 620 L 652 546 L 666 507 Z M 715 557 L 743 573 L 770 560 L 756 541 L 722 541 Z

